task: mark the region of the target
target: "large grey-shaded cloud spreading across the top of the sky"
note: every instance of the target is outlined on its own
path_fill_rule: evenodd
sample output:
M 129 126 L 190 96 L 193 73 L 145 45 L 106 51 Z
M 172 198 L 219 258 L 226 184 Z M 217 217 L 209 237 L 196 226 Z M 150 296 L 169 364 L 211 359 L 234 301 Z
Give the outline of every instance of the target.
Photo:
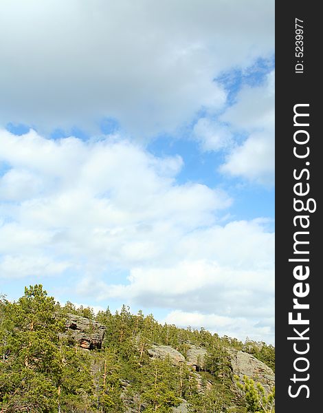
M 4 0 L 0 123 L 174 131 L 221 107 L 213 79 L 270 56 L 273 39 L 273 1 Z

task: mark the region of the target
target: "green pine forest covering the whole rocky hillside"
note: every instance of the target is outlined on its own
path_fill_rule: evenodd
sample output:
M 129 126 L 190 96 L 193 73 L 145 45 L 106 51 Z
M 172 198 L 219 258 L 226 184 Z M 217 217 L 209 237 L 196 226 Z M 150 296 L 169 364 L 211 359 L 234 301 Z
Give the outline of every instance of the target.
M 67 331 L 73 317 L 88 326 L 88 348 L 74 337 L 76 322 Z M 91 341 L 98 328 L 102 343 Z M 194 352 L 203 357 L 190 361 Z M 17 301 L 0 297 L 0 353 L 2 413 L 274 412 L 274 387 L 264 381 L 274 346 L 161 325 L 127 306 L 114 314 L 62 306 L 41 285 Z M 238 357 L 266 374 L 236 371 Z

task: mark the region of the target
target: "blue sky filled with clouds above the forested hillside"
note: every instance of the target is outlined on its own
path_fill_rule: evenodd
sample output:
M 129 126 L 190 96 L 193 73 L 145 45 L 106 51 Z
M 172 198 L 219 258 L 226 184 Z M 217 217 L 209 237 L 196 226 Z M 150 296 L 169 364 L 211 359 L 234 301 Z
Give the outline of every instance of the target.
M 274 1 L 2 0 L 0 294 L 274 343 Z

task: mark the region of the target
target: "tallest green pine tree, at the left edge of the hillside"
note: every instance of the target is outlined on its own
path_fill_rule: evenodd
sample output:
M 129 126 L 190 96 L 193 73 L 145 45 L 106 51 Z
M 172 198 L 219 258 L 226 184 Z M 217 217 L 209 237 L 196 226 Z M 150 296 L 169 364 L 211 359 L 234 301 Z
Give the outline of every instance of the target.
M 57 305 L 41 285 L 25 288 L 25 295 L 5 303 L 1 328 L 2 407 L 8 412 L 50 412 L 58 403 Z

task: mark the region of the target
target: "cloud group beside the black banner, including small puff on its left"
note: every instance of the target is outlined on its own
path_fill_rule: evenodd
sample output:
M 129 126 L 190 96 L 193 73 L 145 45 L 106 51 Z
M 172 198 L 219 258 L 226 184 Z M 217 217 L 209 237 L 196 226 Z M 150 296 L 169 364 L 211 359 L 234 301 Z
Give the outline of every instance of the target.
M 201 151 L 223 151 L 219 171 L 265 186 L 274 184 L 274 70 L 262 85 L 245 85 L 221 116 L 199 118 L 192 138 Z M 247 136 L 241 142 L 241 136 Z

